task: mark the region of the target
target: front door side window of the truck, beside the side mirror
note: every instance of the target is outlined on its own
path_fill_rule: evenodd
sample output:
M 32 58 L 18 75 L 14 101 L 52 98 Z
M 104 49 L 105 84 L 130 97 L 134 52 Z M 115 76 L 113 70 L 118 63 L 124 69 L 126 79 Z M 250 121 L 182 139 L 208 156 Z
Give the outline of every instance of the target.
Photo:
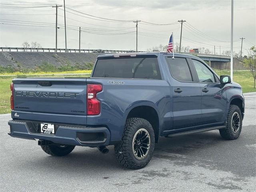
M 192 62 L 196 68 L 196 72 L 199 78 L 199 82 L 214 83 L 213 73 L 200 61 L 192 59 Z

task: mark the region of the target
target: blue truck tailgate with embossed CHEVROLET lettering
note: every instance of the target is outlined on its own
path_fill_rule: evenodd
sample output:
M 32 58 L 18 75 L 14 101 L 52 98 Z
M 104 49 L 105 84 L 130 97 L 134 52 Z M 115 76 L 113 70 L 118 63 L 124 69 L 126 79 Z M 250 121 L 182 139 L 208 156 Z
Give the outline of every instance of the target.
M 15 112 L 86 119 L 86 78 L 15 78 L 12 82 Z

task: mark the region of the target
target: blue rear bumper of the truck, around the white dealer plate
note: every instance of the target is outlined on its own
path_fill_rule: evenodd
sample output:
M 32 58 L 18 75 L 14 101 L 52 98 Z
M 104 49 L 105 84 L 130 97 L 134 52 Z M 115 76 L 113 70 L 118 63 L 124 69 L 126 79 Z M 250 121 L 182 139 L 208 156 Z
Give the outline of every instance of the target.
M 37 122 L 10 120 L 8 122 L 10 132 L 8 132 L 8 134 L 16 138 L 40 139 L 56 144 L 75 146 L 98 147 L 108 146 L 110 143 L 110 132 L 106 127 L 94 128 L 61 124 L 58 125 L 55 134 L 44 134 L 38 132 L 38 128 L 35 128 L 36 123 Z

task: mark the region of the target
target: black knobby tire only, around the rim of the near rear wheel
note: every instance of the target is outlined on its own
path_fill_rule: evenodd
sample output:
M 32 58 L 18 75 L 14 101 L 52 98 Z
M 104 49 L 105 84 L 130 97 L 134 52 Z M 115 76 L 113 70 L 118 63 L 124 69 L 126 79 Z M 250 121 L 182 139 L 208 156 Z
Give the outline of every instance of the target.
M 143 159 L 138 160 L 133 152 L 134 135 L 138 130 L 146 129 L 150 137 L 149 149 Z M 141 169 L 150 161 L 155 146 L 155 135 L 152 125 L 143 118 L 128 118 L 125 123 L 122 141 L 115 145 L 116 159 L 120 164 L 130 169 Z

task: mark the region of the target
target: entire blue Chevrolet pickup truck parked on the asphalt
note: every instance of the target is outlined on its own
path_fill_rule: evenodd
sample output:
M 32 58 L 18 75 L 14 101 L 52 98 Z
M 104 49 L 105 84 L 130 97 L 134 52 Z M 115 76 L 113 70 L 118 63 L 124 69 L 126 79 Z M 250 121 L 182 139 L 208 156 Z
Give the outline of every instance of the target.
M 10 88 L 10 136 L 54 156 L 114 145 L 131 169 L 148 164 L 160 136 L 219 130 L 234 140 L 244 118 L 241 86 L 185 54 L 102 54 L 90 78 L 14 78 Z

